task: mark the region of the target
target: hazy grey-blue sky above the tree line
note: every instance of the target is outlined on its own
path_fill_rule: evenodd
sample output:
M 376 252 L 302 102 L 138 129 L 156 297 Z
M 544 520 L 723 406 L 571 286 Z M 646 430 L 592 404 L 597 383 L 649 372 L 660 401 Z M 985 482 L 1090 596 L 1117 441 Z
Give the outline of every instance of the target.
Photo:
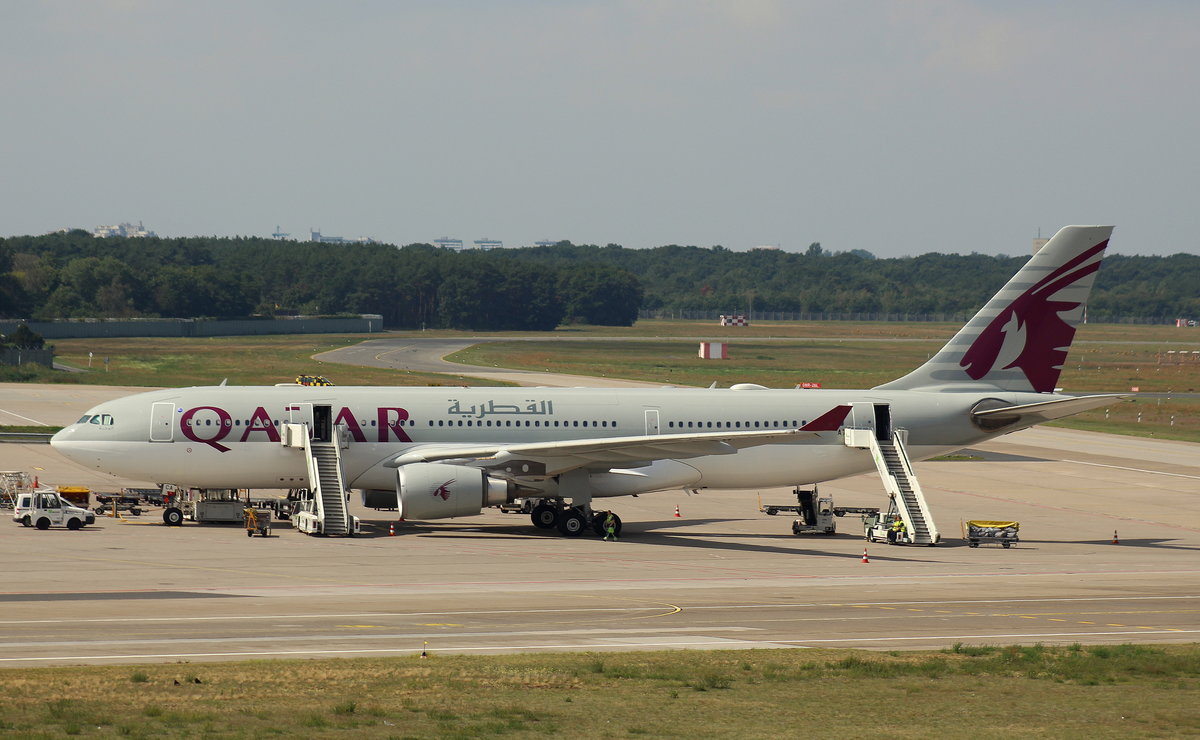
M 7 0 L 0 235 L 1200 253 L 1200 4 Z

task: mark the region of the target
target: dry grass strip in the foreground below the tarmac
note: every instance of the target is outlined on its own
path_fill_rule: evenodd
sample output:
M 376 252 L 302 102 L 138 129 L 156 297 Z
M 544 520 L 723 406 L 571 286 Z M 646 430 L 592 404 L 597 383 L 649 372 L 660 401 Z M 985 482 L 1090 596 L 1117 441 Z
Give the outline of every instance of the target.
M 1198 645 L 11 668 L 0 734 L 1184 738 L 1198 691 Z

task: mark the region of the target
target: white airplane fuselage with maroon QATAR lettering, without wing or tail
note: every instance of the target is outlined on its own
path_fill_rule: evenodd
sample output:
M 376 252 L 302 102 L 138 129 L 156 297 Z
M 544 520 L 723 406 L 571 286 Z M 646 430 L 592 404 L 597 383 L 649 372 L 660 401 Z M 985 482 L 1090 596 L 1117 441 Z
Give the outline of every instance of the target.
M 65 456 L 113 475 L 198 488 L 302 488 L 304 455 L 280 443 L 283 425 L 311 423 L 329 407 L 348 445 L 347 488 L 394 489 L 386 463 L 426 445 L 472 446 L 650 434 L 796 429 L 853 404 L 847 427 L 872 427 L 875 404 L 907 432 L 914 459 L 997 435 L 970 409 L 1046 395 L 995 391 L 832 391 L 709 389 L 305 387 L 214 386 L 154 391 L 104 403 L 54 437 Z M 1019 427 L 1006 428 L 1004 432 Z M 594 494 L 666 488 L 809 485 L 874 470 L 865 450 L 838 431 L 763 444 L 734 455 L 630 461 L 594 476 Z

